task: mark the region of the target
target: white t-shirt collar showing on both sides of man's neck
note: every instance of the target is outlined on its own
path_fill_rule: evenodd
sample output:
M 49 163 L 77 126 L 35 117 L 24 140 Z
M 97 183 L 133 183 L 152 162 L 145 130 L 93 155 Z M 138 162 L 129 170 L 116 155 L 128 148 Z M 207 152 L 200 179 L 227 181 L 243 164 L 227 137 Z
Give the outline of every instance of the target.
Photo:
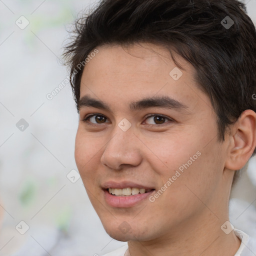
M 234 256 L 255 256 L 256 255 L 256 239 L 252 240 L 243 231 L 234 228 L 235 235 L 241 240 L 241 245 L 236 251 Z M 124 256 L 125 251 L 128 249 L 128 245 L 124 246 L 104 254 L 103 256 Z

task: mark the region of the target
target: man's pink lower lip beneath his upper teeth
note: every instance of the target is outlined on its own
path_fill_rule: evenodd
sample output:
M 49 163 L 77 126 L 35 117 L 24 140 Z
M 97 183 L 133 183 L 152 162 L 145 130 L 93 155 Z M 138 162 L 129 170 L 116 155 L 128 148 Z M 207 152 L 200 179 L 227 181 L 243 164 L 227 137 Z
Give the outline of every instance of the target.
M 135 204 L 141 202 L 142 200 L 146 199 L 153 193 L 154 190 L 150 192 L 146 192 L 143 194 L 134 194 L 134 195 L 126 195 L 126 196 L 119 196 L 113 195 L 108 192 L 108 190 L 103 190 L 105 194 L 106 202 L 112 207 L 132 207 Z

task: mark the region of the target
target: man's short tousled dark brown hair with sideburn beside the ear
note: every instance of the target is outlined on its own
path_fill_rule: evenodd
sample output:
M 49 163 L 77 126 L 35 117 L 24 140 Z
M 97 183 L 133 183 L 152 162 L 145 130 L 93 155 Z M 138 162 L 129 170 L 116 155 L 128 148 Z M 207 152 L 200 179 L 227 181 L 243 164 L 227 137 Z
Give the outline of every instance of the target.
M 101 0 L 76 21 L 65 47 L 77 110 L 89 53 L 104 44 L 140 42 L 165 46 L 180 68 L 172 52 L 193 65 L 217 115 L 220 141 L 245 109 L 256 111 L 256 31 L 237 0 Z

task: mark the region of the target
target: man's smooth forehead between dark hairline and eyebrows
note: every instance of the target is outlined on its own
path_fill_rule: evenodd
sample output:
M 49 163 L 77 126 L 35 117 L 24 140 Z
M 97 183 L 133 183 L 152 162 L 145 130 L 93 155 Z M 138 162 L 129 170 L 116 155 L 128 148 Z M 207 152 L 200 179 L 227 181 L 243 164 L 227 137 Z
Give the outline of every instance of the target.
M 173 53 L 182 66 L 178 68 L 163 46 L 141 43 L 125 47 L 104 45 L 97 49 L 98 53 L 84 67 L 80 97 L 89 94 L 102 101 L 118 100 L 119 104 L 155 95 L 185 99 L 192 105 L 200 97 L 208 100 L 198 89 L 193 66 Z

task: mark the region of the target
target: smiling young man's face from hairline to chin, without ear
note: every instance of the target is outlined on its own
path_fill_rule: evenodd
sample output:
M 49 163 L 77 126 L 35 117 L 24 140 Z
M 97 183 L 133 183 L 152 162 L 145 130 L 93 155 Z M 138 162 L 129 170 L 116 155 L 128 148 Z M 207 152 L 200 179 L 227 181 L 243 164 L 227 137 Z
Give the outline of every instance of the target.
M 98 47 L 80 86 L 75 160 L 118 240 L 156 239 L 220 211 L 226 144 L 217 141 L 210 100 L 190 64 L 177 58 L 181 74 L 167 49 L 142 46 Z

